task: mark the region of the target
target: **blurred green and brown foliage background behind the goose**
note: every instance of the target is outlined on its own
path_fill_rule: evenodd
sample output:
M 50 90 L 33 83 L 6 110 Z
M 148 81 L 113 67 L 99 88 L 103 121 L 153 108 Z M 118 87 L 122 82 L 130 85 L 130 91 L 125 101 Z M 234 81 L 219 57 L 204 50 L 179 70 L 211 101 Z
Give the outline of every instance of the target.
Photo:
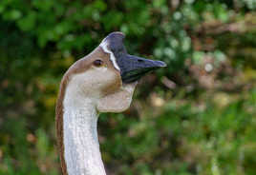
M 168 68 L 141 80 L 128 111 L 100 116 L 108 174 L 256 174 L 255 10 L 255 0 L 1 0 L 0 174 L 60 173 L 60 79 L 115 30 L 130 53 Z

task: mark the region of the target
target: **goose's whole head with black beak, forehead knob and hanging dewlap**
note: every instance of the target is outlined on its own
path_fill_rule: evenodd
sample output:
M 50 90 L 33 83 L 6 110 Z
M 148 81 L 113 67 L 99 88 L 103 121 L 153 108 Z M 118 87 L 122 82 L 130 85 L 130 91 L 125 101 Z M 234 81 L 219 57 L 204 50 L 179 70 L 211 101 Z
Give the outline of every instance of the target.
M 65 96 L 75 103 L 91 99 L 99 112 L 128 108 L 140 77 L 165 63 L 127 53 L 124 34 L 112 32 L 87 56 L 76 61 L 62 79 Z

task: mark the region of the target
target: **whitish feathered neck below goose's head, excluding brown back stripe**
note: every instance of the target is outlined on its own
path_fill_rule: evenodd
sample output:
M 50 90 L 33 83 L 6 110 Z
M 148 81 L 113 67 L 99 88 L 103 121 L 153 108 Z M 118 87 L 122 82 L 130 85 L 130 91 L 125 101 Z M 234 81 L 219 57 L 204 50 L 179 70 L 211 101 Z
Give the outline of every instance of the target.
M 64 157 L 68 174 L 105 175 L 97 139 L 96 107 L 91 100 L 64 100 Z

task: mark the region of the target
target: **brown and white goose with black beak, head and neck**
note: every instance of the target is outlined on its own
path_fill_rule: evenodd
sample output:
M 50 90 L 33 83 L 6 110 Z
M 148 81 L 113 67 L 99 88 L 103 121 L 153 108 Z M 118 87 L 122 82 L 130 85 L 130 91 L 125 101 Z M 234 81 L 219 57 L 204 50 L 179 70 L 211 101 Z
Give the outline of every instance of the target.
M 63 75 L 55 107 L 63 175 L 106 175 L 97 139 L 99 113 L 127 109 L 139 78 L 166 66 L 128 54 L 124 37 L 120 31 L 108 34 Z

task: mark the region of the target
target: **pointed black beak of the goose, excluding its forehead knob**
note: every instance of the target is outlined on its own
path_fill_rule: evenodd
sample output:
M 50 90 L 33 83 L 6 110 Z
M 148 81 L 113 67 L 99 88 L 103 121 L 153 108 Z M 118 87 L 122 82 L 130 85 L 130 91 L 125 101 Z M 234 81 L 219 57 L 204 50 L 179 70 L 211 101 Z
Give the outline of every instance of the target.
M 166 67 L 161 61 L 149 60 L 127 54 L 125 59 L 118 63 L 123 83 L 129 84 L 138 81 L 143 75 L 151 70 Z

